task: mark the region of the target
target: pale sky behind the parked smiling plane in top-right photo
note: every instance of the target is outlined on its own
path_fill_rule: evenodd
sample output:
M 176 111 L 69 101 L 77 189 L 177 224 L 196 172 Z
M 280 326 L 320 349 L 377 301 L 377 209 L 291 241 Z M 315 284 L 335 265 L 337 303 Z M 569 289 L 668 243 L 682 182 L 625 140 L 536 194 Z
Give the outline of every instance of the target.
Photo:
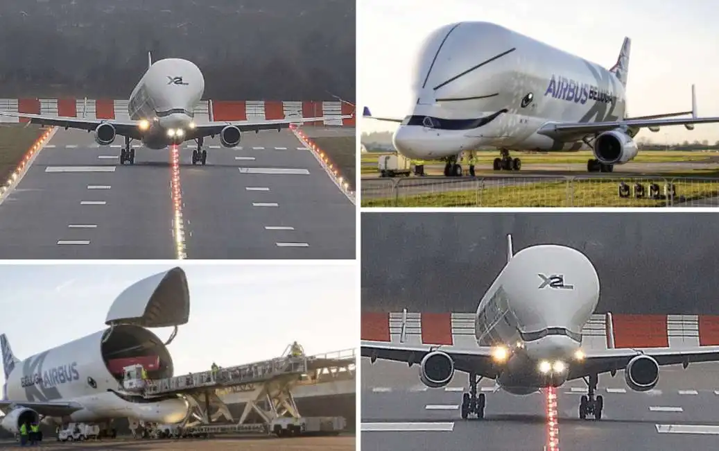
M 625 36 L 632 116 L 689 111 L 696 84 L 700 116 L 719 116 L 719 27 L 714 0 L 361 0 L 357 90 L 376 116 L 404 117 L 414 99 L 413 60 L 423 39 L 452 22 L 494 22 L 610 68 Z M 708 58 L 697 58 L 706 55 Z M 362 119 L 362 132 L 396 125 Z M 719 124 L 643 130 L 654 142 L 719 140 Z

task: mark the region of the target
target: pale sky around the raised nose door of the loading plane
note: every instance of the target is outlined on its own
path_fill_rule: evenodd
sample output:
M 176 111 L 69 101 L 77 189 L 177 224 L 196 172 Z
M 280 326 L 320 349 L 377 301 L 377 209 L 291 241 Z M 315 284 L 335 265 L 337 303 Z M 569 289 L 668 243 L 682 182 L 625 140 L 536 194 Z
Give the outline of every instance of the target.
M 124 288 L 173 266 L 3 265 L 0 333 L 21 360 L 92 334 Z M 180 267 L 190 319 L 168 346 L 175 375 L 279 357 L 294 340 L 308 355 L 357 346 L 354 264 Z M 150 330 L 167 340 L 173 329 Z

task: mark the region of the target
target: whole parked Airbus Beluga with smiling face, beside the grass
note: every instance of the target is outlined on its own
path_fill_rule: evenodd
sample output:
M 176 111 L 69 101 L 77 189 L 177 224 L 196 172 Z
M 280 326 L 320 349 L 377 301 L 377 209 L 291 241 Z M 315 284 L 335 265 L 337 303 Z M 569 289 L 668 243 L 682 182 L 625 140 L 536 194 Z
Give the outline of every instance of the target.
M 518 151 L 592 150 L 588 172 L 612 172 L 638 148 L 641 128 L 719 122 L 692 111 L 628 117 L 626 83 L 631 40 L 624 39 L 615 65 L 605 69 L 531 37 L 489 22 L 459 22 L 436 29 L 418 55 L 413 96 L 404 119 L 363 117 L 399 125 L 395 149 L 408 158 L 444 160 L 444 176 L 462 176 L 462 152 L 493 147 L 494 170 L 520 170 Z M 691 114 L 691 117 L 670 117 Z

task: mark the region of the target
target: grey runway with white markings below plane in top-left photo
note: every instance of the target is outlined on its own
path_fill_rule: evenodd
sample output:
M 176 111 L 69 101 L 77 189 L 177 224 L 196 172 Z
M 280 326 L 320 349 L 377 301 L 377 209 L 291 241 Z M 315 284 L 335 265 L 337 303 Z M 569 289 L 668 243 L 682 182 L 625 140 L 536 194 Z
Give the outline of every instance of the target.
M 354 206 L 292 132 L 242 138 L 205 140 L 204 167 L 180 147 L 186 258 L 354 258 Z M 121 166 L 121 145 L 58 131 L 0 204 L 4 258 L 175 258 L 170 150 Z

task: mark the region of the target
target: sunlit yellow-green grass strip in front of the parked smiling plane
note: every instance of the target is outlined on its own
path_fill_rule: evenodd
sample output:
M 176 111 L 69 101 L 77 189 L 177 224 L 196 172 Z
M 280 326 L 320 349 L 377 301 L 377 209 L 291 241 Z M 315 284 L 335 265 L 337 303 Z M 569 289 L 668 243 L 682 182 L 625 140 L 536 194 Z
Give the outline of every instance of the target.
M 641 181 L 646 193 L 651 181 Z M 631 186 L 635 182 L 627 182 Z M 659 181 L 660 192 L 664 186 Z M 675 203 L 719 196 L 719 180 L 676 181 Z M 633 191 L 633 189 L 632 189 Z M 574 199 L 570 202 L 569 199 Z M 575 180 L 516 184 L 513 186 L 490 186 L 477 190 L 422 193 L 393 198 L 362 199 L 362 206 L 488 206 L 488 207 L 541 207 L 541 206 L 666 206 L 666 199 L 634 199 L 618 196 L 616 180 Z

